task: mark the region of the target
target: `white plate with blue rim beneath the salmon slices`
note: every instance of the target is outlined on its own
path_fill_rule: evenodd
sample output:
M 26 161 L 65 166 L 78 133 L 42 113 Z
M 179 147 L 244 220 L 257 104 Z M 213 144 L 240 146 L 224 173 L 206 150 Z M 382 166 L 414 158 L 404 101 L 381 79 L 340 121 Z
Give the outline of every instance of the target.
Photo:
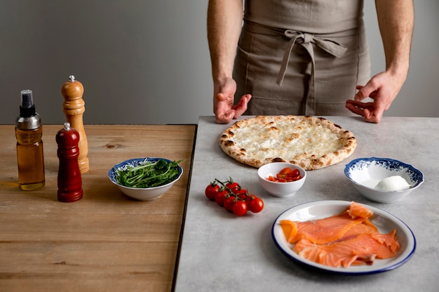
M 376 274 L 386 272 L 400 267 L 412 258 L 416 249 L 416 239 L 414 238 L 412 230 L 410 230 L 402 220 L 391 215 L 391 213 L 365 204 L 363 204 L 363 206 L 374 212 L 374 215 L 372 215 L 370 220 L 375 226 L 377 226 L 379 232 L 389 233 L 396 228 L 396 235 L 400 242 L 400 249 L 392 258 L 374 260 L 372 265 L 330 267 L 302 258 L 302 256 L 292 251 L 294 244 L 288 243 L 285 239 L 282 227 L 279 224 L 281 220 L 308 221 L 327 218 L 341 213 L 350 204 L 350 201 L 313 201 L 289 208 L 281 213 L 273 223 L 271 235 L 276 246 L 278 246 L 288 258 L 291 258 L 298 263 L 337 274 Z

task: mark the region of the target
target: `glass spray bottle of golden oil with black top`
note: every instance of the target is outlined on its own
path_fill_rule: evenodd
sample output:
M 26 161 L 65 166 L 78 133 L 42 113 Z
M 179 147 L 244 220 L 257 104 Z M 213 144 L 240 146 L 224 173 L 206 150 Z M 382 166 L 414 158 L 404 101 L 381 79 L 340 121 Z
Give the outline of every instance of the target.
M 15 121 L 17 138 L 18 185 L 21 190 L 31 191 L 43 187 L 43 126 L 35 112 L 32 91 L 21 91 L 20 116 Z

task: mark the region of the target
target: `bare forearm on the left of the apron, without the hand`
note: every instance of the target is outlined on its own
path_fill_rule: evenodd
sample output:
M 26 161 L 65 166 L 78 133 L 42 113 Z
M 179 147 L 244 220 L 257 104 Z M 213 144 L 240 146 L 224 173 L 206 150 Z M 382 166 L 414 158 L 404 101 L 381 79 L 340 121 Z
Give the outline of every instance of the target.
M 242 0 L 209 1 L 208 42 L 214 81 L 231 77 L 242 21 Z

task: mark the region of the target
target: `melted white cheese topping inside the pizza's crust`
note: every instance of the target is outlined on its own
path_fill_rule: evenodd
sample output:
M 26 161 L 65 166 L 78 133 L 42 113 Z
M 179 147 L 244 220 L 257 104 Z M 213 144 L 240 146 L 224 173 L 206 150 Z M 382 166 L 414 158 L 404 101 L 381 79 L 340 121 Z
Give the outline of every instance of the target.
M 321 124 L 269 123 L 235 129 L 234 143 L 253 158 L 306 159 L 340 150 L 343 141 Z

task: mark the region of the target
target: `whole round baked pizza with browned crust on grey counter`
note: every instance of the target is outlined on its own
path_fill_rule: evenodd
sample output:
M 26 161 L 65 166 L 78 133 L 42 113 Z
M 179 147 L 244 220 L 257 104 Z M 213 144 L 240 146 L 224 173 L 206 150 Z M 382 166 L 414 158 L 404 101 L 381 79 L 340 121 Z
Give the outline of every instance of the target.
M 311 171 L 350 157 L 357 140 L 321 117 L 257 116 L 236 121 L 222 133 L 219 145 L 249 166 L 290 162 Z

